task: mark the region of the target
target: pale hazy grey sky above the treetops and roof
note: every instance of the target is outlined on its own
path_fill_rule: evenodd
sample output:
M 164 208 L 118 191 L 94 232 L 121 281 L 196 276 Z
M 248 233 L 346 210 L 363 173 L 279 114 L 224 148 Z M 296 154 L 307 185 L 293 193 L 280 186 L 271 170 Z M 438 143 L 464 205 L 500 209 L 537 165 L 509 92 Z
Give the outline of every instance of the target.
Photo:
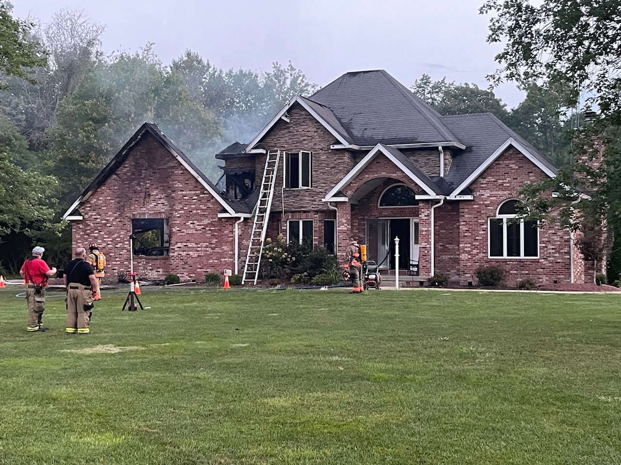
M 483 1 L 14 0 L 14 15 L 45 23 L 60 9 L 81 9 L 106 25 L 104 51 L 154 42 L 165 64 L 189 48 L 225 69 L 291 61 L 320 86 L 347 71 L 386 69 L 407 87 L 423 73 L 487 87 L 500 47 L 486 43 Z M 509 107 L 524 98 L 512 84 L 496 95 Z

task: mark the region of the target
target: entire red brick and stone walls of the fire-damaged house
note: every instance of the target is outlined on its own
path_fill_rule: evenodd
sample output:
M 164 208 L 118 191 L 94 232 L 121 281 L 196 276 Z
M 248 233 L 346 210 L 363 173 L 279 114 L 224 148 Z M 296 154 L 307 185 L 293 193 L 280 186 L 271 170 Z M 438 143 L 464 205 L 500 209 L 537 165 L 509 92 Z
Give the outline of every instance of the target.
M 419 195 L 426 194 L 388 157 L 379 152 L 345 188 L 350 201 L 325 203 L 322 198 L 350 172 L 365 153 L 332 150 L 335 138 L 299 104 L 289 111 L 289 122 L 279 120 L 257 148 L 280 149 L 287 153 L 312 152 L 312 188 L 283 188 L 283 160 L 276 177 L 272 210 L 266 237 L 287 236 L 288 221 L 312 219 L 313 242 L 322 245 L 324 221 L 335 219 L 337 258 L 350 237 L 363 242 L 368 219 L 410 218 L 418 222 L 420 276 L 431 269 L 432 207 L 440 200 L 419 200 L 418 206 L 378 206 L 387 187 L 406 184 Z M 430 175 L 439 174 L 437 149 L 404 150 Z M 445 150 L 445 169 L 453 153 Z M 260 185 L 265 156 L 239 157 L 227 167 L 253 167 L 255 184 Z M 517 149 L 509 148 L 488 167 L 470 189 L 473 200 L 448 201 L 433 209 L 435 216 L 435 269 L 451 280 L 474 281 L 480 265 L 500 265 L 508 285 L 530 277 L 536 283 L 568 283 L 571 279 L 569 231 L 553 226 L 540 229 L 538 259 L 490 259 L 487 257 L 487 221 L 496 216 L 502 201 L 515 198 L 525 182 L 537 182 L 546 175 Z M 170 224 L 170 254 L 163 257 L 134 257 L 135 270 L 150 279 L 175 273 L 182 280 L 204 280 L 209 272 L 235 270 L 235 222 L 240 218 L 218 218 L 222 205 L 150 133 L 130 149 L 127 159 L 79 206 L 84 219 L 73 222 L 73 247 L 97 242 L 107 255 L 107 281 L 116 281 L 129 269 L 129 234 L 132 218 L 166 218 Z M 248 250 L 253 219 L 238 223 L 238 273 Z M 400 237 L 402 240 L 409 238 Z M 127 244 L 127 246 L 125 246 Z M 373 246 L 373 244 L 368 244 Z M 584 281 L 585 267 L 574 246 L 574 279 Z M 378 257 L 383 259 L 383 257 Z

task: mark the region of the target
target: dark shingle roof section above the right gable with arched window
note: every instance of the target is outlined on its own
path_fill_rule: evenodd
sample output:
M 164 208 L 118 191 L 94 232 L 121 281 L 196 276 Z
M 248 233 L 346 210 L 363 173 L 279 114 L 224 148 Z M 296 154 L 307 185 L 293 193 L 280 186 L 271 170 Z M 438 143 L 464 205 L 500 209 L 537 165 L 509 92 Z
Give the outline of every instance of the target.
M 556 173 L 555 165 L 540 151 L 511 130 L 492 113 L 450 115 L 441 117 L 442 122 L 466 145 L 453 157 L 445 181 L 457 187 L 483 164 L 507 139 L 513 138 L 533 154 L 544 166 Z

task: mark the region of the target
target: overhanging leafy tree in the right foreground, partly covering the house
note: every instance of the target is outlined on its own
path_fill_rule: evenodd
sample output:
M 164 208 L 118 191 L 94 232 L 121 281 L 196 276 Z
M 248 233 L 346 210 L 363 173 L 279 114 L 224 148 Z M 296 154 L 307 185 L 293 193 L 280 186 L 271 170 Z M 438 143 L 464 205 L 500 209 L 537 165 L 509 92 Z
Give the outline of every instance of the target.
M 492 84 L 509 80 L 563 89 L 564 104 L 585 100 L 594 121 L 574 131 L 572 162 L 555 179 L 522 191 L 530 216 L 598 234 L 621 232 L 621 3 L 618 0 L 487 0 L 490 43 L 502 43 Z M 551 197 L 557 192 L 557 197 Z M 585 201 L 587 194 L 590 200 Z M 592 239 L 592 238 L 591 238 Z M 602 241 L 602 238 L 599 238 Z M 597 241 L 589 240 L 595 244 Z M 597 249 L 597 247 L 593 247 Z M 582 250 L 588 256 L 593 250 Z

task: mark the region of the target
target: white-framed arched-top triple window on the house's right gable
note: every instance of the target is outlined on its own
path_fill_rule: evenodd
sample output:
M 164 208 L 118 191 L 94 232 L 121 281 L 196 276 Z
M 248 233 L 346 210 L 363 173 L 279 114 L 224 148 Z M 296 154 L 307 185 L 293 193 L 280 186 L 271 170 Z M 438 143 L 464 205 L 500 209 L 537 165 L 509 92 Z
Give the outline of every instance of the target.
M 487 250 L 489 258 L 539 257 L 539 223 L 537 220 L 517 218 L 515 199 L 505 200 L 498 206 L 496 218 L 489 218 L 487 224 Z

